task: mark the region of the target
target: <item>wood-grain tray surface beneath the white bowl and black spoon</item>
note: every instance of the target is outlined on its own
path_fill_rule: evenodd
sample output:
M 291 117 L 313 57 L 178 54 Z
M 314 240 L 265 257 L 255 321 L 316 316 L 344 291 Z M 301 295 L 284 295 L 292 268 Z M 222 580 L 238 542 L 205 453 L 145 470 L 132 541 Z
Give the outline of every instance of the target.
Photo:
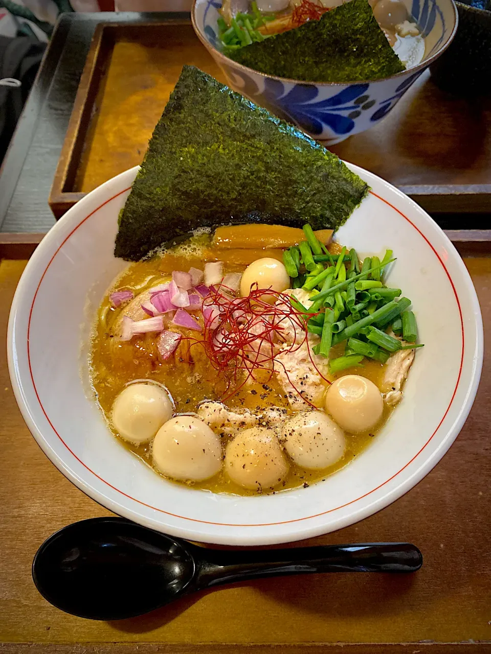
M 468 258 L 491 337 L 491 258 Z M 0 339 L 25 262 L 0 262 Z M 491 651 L 491 356 L 462 433 L 436 468 L 388 508 L 306 544 L 407 540 L 412 576 L 332 574 L 250 581 L 119 622 L 48 604 L 31 581 L 37 547 L 68 523 L 109 515 L 30 436 L 0 353 L 0 653 L 440 654 Z M 73 646 L 72 646 L 73 644 Z M 76 645 L 75 645 L 76 644 Z

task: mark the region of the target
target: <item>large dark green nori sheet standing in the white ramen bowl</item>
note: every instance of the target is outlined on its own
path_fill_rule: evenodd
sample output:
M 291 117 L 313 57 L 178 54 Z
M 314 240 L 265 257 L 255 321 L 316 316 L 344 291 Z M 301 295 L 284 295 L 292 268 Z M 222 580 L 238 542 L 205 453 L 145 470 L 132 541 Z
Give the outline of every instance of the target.
M 120 213 L 115 256 L 137 261 L 220 224 L 337 229 L 368 189 L 302 131 L 185 66 Z

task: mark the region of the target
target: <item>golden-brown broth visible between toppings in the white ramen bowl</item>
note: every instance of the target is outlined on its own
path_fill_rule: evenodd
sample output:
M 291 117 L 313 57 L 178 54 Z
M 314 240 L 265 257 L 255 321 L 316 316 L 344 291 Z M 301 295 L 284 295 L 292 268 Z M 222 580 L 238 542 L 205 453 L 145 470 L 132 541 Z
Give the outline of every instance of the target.
M 137 296 L 141 292 L 155 286 L 158 283 L 170 281 L 173 270 L 188 270 L 191 266 L 202 269 L 208 261 L 224 260 L 223 250 L 211 246 L 209 235 L 201 235 L 192 239 L 196 247 L 189 249 L 185 246 L 178 246 L 156 256 L 152 260 L 131 264 L 118 277 L 114 289 L 129 289 Z M 332 254 L 340 251 L 340 247 L 333 243 L 329 246 Z M 232 250 L 229 250 L 229 252 Z M 237 252 L 238 250 L 233 250 Z M 229 272 L 244 271 L 246 263 L 249 262 L 250 254 L 254 252 L 254 259 L 257 258 L 257 249 L 242 250 L 240 258 L 232 262 L 225 257 L 223 267 L 224 275 Z M 263 250 L 266 256 L 267 250 Z M 237 262 L 237 259 L 241 263 Z M 98 312 L 96 325 L 91 343 L 90 354 L 90 377 L 96 399 L 109 427 L 118 436 L 111 425 L 111 408 L 117 395 L 123 388 L 137 379 L 152 379 L 168 388 L 175 403 L 176 413 L 192 413 L 203 400 L 221 400 L 227 391 L 223 375 L 211 366 L 204 354 L 200 343 L 200 334 L 196 331 L 179 328 L 183 336 L 190 340 L 183 339 L 175 354 L 167 361 L 160 360 L 156 351 L 157 334 L 145 334 L 133 337 L 131 341 L 121 341 L 117 337 L 118 320 L 124 315 L 128 305 L 115 309 L 109 300 L 109 293 L 104 298 Z M 198 314 L 194 312 L 198 318 Z M 199 319 L 199 318 L 198 318 Z M 164 317 L 164 323 L 168 320 L 166 327 L 170 326 L 170 318 Z M 173 330 L 176 330 L 173 326 Z M 333 348 L 333 356 L 340 356 L 344 352 L 344 343 Z M 362 374 L 380 388 L 382 381 L 382 364 L 372 360 L 365 360 L 363 368 L 351 368 L 344 370 L 335 377 L 329 377 L 333 381 L 337 377 L 348 374 Z M 270 376 L 266 371 L 259 371 L 257 381 L 249 380 L 249 383 L 239 392 L 227 400 L 227 406 L 231 409 L 251 409 L 260 413 L 268 407 L 285 407 L 287 413 L 291 413 L 285 394 L 276 382 L 275 375 Z M 346 452 L 344 456 L 333 466 L 324 470 L 305 470 L 289 461 L 289 473 L 274 492 L 278 490 L 292 489 L 302 485 L 310 485 L 336 470 L 340 470 L 348 464 L 355 456 L 359 455 L 371 442 L 371 439 L 380 430 L 380 427 L 390 415 L 390 408 L 384 404 L 384 415 L 376 430 L 362 432 L 361 434 L 346 434 Z M 224 446 L 229 437 L 222 436 Z M 151 445 L 135 446 L 119 438 L 121 443 L 135 455 L 139 456 L 145 464 L 152 467 Z M 157 472 L 157 471 L 155 471 Z M 158 472 L 157 472 L 158 473 Z M 176 482 L 181 483 L 181 482 Z M 196 489 L 205 489 L 212 492 L 227 492 L 238 495 L 251 496 L 257 494 L 255 490 L 247 490 L 238 486 L 228 479 L 221 470 L 215 477 L 200 482 L 190 482 L 188 485 Z

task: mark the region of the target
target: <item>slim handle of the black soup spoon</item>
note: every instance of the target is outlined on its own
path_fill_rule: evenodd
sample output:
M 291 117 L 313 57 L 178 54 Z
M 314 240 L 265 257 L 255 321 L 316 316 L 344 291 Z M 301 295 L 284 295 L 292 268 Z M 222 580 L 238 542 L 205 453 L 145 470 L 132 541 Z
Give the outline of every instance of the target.
M 266 550 L 196 548 L 198 588 L 313 572 L 416 572 L 423 557 L 411 543 L 357 543 Z M 199 559 L 199 560 L 198 560 Z

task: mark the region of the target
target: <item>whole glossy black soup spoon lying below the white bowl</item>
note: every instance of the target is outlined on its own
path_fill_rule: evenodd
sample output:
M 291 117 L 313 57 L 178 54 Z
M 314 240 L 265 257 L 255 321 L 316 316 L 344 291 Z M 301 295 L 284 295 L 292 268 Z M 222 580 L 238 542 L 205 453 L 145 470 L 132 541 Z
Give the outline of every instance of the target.
M 123 518 L 68 525 L 39 547 L 34 583 L 48 602 L 92 620 L 147 613 L 224 583 L 308 572 L 415 572 L 410 543 L 322 545 L 292 549 L 198 547 Z

